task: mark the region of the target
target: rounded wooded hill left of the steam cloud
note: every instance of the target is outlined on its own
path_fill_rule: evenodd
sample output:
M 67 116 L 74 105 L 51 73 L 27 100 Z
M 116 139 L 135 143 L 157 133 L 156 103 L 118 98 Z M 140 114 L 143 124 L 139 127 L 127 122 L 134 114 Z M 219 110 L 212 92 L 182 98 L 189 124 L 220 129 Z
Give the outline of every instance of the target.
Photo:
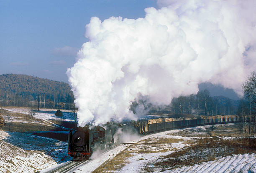
M 39 97 L 38 97 L 39 96 Z M 1 106 L 37 106 L 70 109 L 74 95 L 69 84 L 25 74 L 0 75 Z

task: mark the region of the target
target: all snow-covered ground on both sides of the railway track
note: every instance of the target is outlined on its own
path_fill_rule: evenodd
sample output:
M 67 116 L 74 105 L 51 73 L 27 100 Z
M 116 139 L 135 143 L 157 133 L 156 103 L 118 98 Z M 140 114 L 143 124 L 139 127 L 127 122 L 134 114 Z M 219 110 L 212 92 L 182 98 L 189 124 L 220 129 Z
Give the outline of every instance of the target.
M 8 108 L 7 110 L 28 114 L 29 109 Z M 44 121 L 58 120 L 54 110 L 43 110 L 37 112 L 36 117 Z M 72 112 L 64 112 L 65 120 L 73 120 Z M 229 126 L 229 125 L 216 125 Z M 94 153 L 91 159 L 70 172 L 84 173 L 92 172 L 103 163 L 115 159 L 115 156 L 124 151 L 133 153 L 128 157 L 128 163 L 120 170 L 121 173 L 137 173 L 143 171 L 148 163 L 153 163 L 164 155 L 190 145 L 189 141 L 197 135 L 204 135 L 210 126 L 190 127 L 179 130 L 169 130 L 151 135 L 145 135 L 136 144 L 120 144 L 104 153 Z M 159 144 L 159 141 L 161 141 Z M 167 140 L 168 142 L 163 142 Z M 169 142 L 173 140 L 174 142 Z M 148 145 L 151 144 L 151 145 Z M 155 145 L 152 145 L 155 144 Z M 125 150 L 126 149 L 126 150 Z M 19 132 L 0 131 L 0 172 L 45 172 L 64 162 L 71 160 L 67 155 L 67 143 L 46 137 L 39 137 Z M 2 152 L 3 151 L 3 152 Z M 150 151 L 150 152 L 147 152 Z M 158 171 L 158 170 L 156 170 Z M 159 169 L 160 171 L 160 169 Z M 256 172 L 256 158 L 254 154 L 232 155 L 220 157 L 214 161 L 184 166 L 165 172 Z

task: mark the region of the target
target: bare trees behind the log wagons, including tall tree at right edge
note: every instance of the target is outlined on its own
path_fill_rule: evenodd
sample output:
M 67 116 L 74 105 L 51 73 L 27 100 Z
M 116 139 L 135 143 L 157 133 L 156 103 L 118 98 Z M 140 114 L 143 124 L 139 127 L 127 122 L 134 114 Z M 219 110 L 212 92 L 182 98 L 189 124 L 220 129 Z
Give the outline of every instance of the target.
M 130 110 L 133 113 L 148 114 L 195 114 L 195 115 L 233 115 L 238 114 L 243 120 L 243 126 L 248 122 L 249 132 L 251 124 L 254 124 L 256 132 L 256 72 L 253 71 L 242 84 L 244 97 L 241 100 L 233 100 L 227 97 L 210 97 L 210 92 L 205 89 L 187 96 L 174 97 L 168 105 L 155 105 L 149 102 L 145 96 L 139 96 L 131 103 Z M 244 127 L 246 129 L 246 127 Z

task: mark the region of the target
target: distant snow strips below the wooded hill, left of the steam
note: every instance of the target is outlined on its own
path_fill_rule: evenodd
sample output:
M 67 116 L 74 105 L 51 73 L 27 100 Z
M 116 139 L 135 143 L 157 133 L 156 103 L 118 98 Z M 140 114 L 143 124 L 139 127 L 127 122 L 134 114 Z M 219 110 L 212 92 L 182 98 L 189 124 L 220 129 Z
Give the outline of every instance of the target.
M 11 112 L 18 112 L 22 114 L 29 114 L 30 111 L 29 108 L 4 108 Z M 39 111 L 36 110 L 35 118 L 41 119 L 41 120 L 59 120 L 59 117 L 55 115 L 56 109 L 39 109 Z M 74 113 L 72 113 L 70 110 L 61 110 L 63 113 L 62 120 L 64 121 L 74 121 Z M 15 119 L 11 119 L 12 121 L 15 121 Z M 17 121 L 17 120 L 16 120 Z

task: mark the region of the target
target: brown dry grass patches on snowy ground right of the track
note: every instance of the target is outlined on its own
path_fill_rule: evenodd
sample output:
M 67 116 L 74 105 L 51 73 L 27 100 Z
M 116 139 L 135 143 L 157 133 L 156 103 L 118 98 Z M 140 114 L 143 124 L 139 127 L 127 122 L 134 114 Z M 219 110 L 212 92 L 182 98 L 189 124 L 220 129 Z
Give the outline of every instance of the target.
M 210 127 L 210 126 L 209 126 Z M 176 138 L 158 138 L 141 140 L 118 154 L 112 160 L 107 160 L 94 173 L 118 172 L 129 163 L 134 154 L 164 153 L 154 162 L 148 162 L 141 172 L 156 172 L 181 168 L 182 166 L 200 164 L 215 160 L 220 156 L 238 155 L 245 153 L 256 154 L 256 137 L 253 133 L 241 132 L 239 124 L 216 125 L 215 131 L 210 128 L 181 130 L 168 135 L 191 137 L 191 140 Z M 248 125 L 247 125 L 248 127 Z M 248 130 L 247 130 L 248 132 Z M 170 144 L 183 142 L 186 146 L 181 149 L 172 148 Z M 140 158 L 143 160 L 143 158 Z

